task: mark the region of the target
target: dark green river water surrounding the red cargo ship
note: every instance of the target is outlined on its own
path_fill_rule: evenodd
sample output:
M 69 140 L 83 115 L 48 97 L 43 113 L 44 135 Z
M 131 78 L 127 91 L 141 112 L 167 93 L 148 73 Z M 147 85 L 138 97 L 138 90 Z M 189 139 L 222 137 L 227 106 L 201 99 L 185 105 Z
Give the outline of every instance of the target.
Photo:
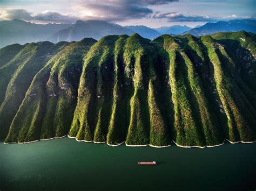
M 139 166 L 138 161 L 157 161 Z M 253 190 L 256 143 L 117 147 L 61 138 L 0 143 L 0 190 Z

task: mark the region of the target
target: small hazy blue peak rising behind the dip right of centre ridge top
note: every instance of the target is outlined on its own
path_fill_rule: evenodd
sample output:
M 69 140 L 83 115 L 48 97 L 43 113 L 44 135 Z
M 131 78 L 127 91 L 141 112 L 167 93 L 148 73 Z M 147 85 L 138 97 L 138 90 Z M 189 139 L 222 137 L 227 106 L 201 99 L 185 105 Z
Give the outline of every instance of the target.
M 159 37 L 161 35 L 161 33 L 159 33 L 158 31 L 154 30 L 154 29 L 150 29 L 147 26 L 125 26 L 127 29 L 130 29 L 136 33 L 138 33 L 140 36 L 144 37 L 144 38 L 148 38 L 148 39 L 154 39 L 156 37 Z

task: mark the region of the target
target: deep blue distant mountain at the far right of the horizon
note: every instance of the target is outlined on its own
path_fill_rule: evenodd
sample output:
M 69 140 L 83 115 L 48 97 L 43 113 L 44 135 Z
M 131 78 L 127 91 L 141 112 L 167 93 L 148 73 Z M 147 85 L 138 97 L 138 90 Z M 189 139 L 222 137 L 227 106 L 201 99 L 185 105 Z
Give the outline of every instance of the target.
M 237 31 L 256 32 L 256 20 L 229 20 L 219 21 L 217 23 L 206 23 L 195 29 L 184 32 L 183 34 L 192 34 L 193 36 L 204 36 L 217 32 L 237 32 Z

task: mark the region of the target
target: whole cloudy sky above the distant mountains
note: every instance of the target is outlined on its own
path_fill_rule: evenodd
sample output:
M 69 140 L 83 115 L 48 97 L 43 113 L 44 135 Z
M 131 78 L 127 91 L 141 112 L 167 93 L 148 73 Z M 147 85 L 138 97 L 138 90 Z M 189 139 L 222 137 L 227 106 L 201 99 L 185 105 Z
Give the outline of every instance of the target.
M 74 23 L 106 20 L 149 27 L 187 25 L 251 18 L 255 0 L 0 0 L 0 20 Z

